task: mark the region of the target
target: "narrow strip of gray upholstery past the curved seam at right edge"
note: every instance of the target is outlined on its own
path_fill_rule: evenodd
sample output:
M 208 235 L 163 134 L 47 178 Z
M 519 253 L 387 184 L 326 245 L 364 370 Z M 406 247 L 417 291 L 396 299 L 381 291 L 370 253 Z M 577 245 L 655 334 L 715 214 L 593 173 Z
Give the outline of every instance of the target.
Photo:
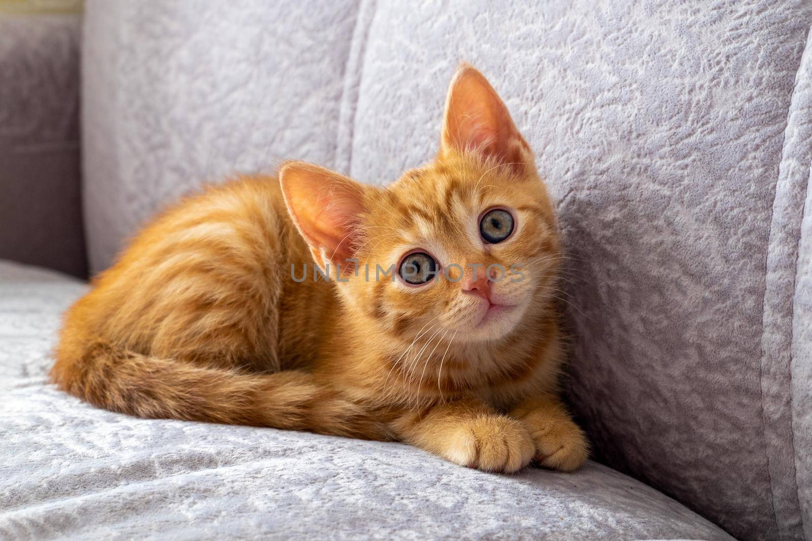
M 761 386 L 775 517 L 789 525 L 800 506 L 812 539 L 812 32 L 795 79 L 784 130 L 765 277 Z

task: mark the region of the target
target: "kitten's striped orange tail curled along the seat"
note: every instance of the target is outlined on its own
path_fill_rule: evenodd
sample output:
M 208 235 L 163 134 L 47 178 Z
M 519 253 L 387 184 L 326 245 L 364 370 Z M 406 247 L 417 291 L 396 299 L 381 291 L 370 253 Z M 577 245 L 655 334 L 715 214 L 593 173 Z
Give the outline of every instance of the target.
M 390 439 L 384 423 L 304 371 L 246 374 L 119 350 L 102 342 L 57 354 L 59 389 L 94 406 L 147 419 L 181 419 Z

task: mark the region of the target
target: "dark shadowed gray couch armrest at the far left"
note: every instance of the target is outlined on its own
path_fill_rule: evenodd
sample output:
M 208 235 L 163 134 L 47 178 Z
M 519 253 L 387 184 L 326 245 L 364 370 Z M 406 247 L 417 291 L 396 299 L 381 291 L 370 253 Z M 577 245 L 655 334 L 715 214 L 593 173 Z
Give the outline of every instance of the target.
M 0 13 L 0 257 L 87 273 L 79 15 Z

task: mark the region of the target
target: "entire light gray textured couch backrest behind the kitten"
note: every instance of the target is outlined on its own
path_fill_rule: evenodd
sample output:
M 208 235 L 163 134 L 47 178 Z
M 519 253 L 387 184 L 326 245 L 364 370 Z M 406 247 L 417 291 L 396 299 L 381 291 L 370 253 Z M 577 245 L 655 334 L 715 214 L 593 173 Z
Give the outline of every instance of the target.
M 89 2 L 93 269 L 234 170 L 390 182 L 472 62 L 557 204 L 596 456 L 743 539 L 812 539 L 812 4 L 287 3 Z

